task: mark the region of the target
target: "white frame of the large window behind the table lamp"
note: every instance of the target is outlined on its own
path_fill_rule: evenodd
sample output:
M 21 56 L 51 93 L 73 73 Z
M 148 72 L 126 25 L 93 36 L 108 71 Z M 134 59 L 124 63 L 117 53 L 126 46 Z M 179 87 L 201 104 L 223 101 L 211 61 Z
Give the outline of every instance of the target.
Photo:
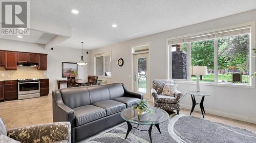
M 166 39 L 166 56 L 167 56 L 167 62 L 166 62 L 166 77 L 167 79 L 172 79 L 172 55 L 170 54 L 170 49 L 169 49 L 169 43 L 168 41 L 172 41 L 174 39 L 179 39 L 179 38 L 185 38 L 185 37 L 193 37 L 193 36 L 198 36 L 198 35 L 204 35 L 207 33 L 213 33 L 216 31 L 224 31 L 228 29 L 235 29 L 235 28 L 240 28 L 240 27 L 245 27 L 248 26 L 250 27 L 250 34 L 249 34 L 249 84 L 238 84 L 238 83 L 219 83 L 218 82 L 218 74 L 214 74 L 214 82 L 200 82 L 201 85 L 209 85 L 209 86 L 226 86 L 226 87 L 242 87 L 242 88 L 255 88 L 255 78 L 251 78 L 250 74 L 254 73 L 255 71 L 255 63 L 256 63 L 256 58 L 253 58 L 252 54 L 252 49 L 255 47 L 255 21 L 253 22 L 248 22 L 244 23 L 242 25 L 236 25 L 236 26 L 229 26 L 225 28 L 220 28 L 220 29 L 215 29 L 215 30 L 209 30 L 209 31 L 203 31 L 199 33 L 194 33 L 194 34 L 188 34 L 188 35 L 183 35 L 183 36 L 178 36 L 178 37 L 173 37 L 173 38 L 167 38 Z M 224 36 L 226 37 L 226 36 Z M 209 38 L 212 39 L 212 38 Z M 214 39 L 214 72 L 218 73 L 218 37 L 213 38 Z M 184 84 L 196 84 L 195 81 L 191 81 L 191 42 L 179 42 L 179 43 L 172 43 L 172 44 L 180 44 L 180 43 L 187 43 L 187 79 L 172 79 L 175 80 L 176 83 L 184 83 Z

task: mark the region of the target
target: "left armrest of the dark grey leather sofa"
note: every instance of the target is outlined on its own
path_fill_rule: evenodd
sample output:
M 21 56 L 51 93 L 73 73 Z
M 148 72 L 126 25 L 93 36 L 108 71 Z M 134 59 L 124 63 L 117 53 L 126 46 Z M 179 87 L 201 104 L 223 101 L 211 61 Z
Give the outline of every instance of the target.
M 65 105 L 59 90 L 52 92 L 53 122 L 71 122 L 74 120 L 74 110 Z

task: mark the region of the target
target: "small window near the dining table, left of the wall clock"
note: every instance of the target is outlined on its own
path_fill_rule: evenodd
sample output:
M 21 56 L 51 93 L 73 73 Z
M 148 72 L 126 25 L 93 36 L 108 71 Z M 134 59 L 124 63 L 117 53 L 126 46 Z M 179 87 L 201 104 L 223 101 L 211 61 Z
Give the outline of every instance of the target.
M 111 77 L 111 53 L 95 55 L 95 74 L 102 77 Z

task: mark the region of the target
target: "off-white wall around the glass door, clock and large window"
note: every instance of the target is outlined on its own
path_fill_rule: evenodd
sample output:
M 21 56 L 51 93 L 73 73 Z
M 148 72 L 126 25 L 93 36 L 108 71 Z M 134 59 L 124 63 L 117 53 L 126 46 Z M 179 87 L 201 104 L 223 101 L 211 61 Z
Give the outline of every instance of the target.
M 171 20 L 171 19 L 168 19 Z M 256 10 L 232 15 L 216 20 L 211 20 L 197 25 L 170 30 L 150 36 L 145 36 L 129 41 L 124 41 L 114 45 L 101 47 L 90 52 L 90 74 L 94 74 L 94 54 L 103 51 L 112 51 L 112 78 L 109 83 L 123 82 L 132 90 L 132 56 L 131 45 L 150 42 L 150 82 L 153 79 L 167 78 L 167 56 L 166 56 L 166 38 L 183 36 L 208 30 L 239 25 L 256 20 Z M 255 33 L 255 31 L 253 31 Z M 255 39 L 252 39 L 255 43 Z M 124 59 L 124 65 L 119 67 L 117 60 Z M 255 60 L 255 59 L 253 59 Z M 194 90 L 195 85 L 190 83 L 179 84 L 179 90 L 185 93 L 187 90 Z M 256 89 L 221 87 L 212 85 L 201 85 L 201 90 L 209 92 L 210 97 L 205 98 L 205 109 L 207 113 L 217 114 L 230 118 L 236 118 L 247 122 L 256 123 Z M 191 99 L 186 96 L 181 100 L 181 106 L 191 107 Z M 199 110 L 196 108 L 196 110 Z

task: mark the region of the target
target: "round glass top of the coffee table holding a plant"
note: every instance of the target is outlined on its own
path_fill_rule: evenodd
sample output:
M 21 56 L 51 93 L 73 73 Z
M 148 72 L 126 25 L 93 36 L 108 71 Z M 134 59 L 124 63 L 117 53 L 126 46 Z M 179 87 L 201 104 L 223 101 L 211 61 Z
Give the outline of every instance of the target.
M 128 107 L 122 110 L 121 116 L 127 122 L 143 125 L 160 124 L 168 120 L 169 114 L 166 111 L 156 107 L 150 108 L 152 113 L 146 112 L 138 115 L 137 110 L 134 110 L 133 107 Z

